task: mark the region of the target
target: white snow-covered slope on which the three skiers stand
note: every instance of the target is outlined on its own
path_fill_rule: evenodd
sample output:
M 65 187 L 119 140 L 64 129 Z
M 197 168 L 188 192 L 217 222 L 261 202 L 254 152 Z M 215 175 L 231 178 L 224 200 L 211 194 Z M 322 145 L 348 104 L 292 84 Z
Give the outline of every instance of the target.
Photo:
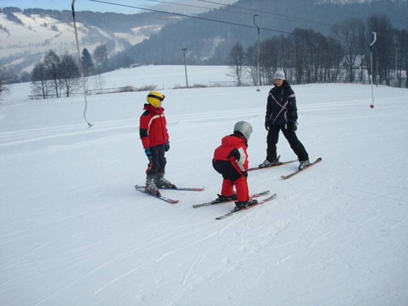
M 293 86 L 298 137 L 323 161 L 287 181 L 297 164 L 249 172 L 251 193 L 277 198 L 215 220 L 234 203 L 191 207 L 220 192 L 213 151 L 247 120 L 249 164 L 265 159 L 269 87 L 171 90 L 184 67 L 163 69 L 150 71 L 166 95 L 166 176 L 206 187 L 163 191 L 176 205 L 134 190 L 146 92 L 89 96 L 87 129 L 83 97 L 12 87 L 0 105 L 1 305 L 408 304 L 408 90 L 374 88 L 370 109 L 368 85 Z M 295 158 L 283 135 L 278 154 Z

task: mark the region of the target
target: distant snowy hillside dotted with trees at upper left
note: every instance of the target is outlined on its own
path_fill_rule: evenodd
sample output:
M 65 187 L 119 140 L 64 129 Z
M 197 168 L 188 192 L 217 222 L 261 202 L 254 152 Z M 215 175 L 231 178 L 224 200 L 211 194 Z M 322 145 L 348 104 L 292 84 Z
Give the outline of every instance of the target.
M 4 13 L 0 13 L 0 25 L 2 26 L 0 28 L 0 59 L 3 58 L 7 65 L 12 66 L 26 61 L 27 65 L 24 70 L 31 72 L 35 60 L 42 59 L 49 49 L 61 54 L 75 51 L 73 22 L 65 23 L 46 15 L 32 14 L 29 17 L 23 13 L 13 14 L 21 20 L 22 24 L 11 21 Z M 162 24 L 157 24 L 136 27 L 129 33 L 107 33 L 92 25 L 85 26 L 77 22 L 81 48 L 86 47 L 92 53 L 97 45 L 113 40 L 115 48 L 111 50 L 111 54 L 125 49 L 123 39 L 129 45 L 134 45 L 149 37 L 145 34 L 147 28 L 150 32 L 158 32 L 162 26 Z

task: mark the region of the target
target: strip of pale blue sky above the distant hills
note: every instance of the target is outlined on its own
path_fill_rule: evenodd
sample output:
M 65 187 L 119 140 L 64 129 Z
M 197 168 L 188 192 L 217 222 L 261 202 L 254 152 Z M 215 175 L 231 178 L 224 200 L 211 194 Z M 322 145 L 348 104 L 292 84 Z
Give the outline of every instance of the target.
M 233 4 L 238 0 L 209 0 L 221 4 Z M 179 13 L 198 13 L 205 11 L 205 9 L 198 9 L 192 7 L 184 7 L 172 4 L 163 4 L 163 2 L 179 3 L 191 6 L 205 7 L 209 9 L 219 8 L 220 5 L 202 2 L 199 0 L 160 0 L 160 2 L 151 0 L 106 0 L 106 2 L 123 4 L 129 6 L 136 6 L 147 9 L 157 9 Z M 71 10 L 72 0 L 0 0 L 0 7 L 18 7 L 20 9 L 39 8 L 50 10 Z M 144 12 L 129 7 L 120 7 L 116 5 L 103 4 L 91 2 L 88 0 L 76 0 L 75 11 L 93 11 L 93 12 L 116 12 L 123 14 L 137 14 Z

